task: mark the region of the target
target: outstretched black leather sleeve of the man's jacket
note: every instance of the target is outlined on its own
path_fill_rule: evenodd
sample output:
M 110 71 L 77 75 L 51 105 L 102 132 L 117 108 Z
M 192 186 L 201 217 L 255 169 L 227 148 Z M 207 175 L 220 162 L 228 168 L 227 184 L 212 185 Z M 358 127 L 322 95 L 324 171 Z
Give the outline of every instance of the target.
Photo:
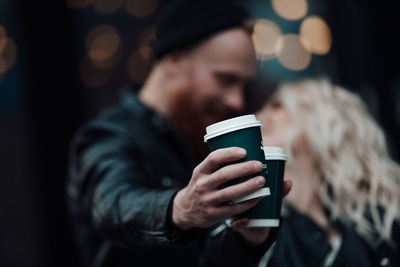
M 169 205 L 178 189 L 151 186 L 141 152 L 123 128 L 97 122 L 84 128 L 71 150 L 70 176 L 91 223 L 114 244 L 175 245 L 188 239 L 168 223 Z M 148 163 L 146 163 L 148 164 Z

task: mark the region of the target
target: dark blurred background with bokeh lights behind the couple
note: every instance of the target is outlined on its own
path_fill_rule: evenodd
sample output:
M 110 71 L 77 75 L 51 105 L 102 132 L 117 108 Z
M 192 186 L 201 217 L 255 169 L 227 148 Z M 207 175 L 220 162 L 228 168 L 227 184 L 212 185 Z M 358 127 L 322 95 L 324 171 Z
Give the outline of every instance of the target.
M 260 76 L 359 93 L 399 160 L 395 3 L 246 0 Z M 0 266 L 78 266 L 65 207 L 77 128 L 138 90 L 161 0 L 0 0 Z

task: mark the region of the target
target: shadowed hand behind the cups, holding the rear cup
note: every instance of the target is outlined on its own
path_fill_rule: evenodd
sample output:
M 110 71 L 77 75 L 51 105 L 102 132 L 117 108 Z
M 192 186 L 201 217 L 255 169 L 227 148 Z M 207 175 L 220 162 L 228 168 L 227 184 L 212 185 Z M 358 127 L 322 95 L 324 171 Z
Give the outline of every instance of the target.
M 283 197 L 285 197 L 292 188 L 292 181 L 283 182 Z M 234 220 L 232 229 L 242 234 L 244 239 L 253 246 L 262 244 L 268 237 L 270 227 L 247 227 L 249 219 Z

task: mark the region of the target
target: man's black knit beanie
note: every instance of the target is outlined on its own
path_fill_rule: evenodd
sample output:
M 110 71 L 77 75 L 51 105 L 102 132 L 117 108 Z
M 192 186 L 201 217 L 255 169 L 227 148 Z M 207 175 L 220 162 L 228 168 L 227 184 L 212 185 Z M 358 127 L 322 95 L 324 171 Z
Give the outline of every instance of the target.
M 172 0 L 160 11 L 154 56 L 160 59 L 218 31 L 241 26 L 247 16 L 233 0 Z

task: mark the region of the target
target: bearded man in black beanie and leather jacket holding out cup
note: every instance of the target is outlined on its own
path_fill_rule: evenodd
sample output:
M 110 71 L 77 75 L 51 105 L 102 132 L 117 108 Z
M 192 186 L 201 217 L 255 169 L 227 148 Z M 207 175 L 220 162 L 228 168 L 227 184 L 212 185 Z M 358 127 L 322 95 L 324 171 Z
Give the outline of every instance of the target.
M 171 3 L 158 24 L 158 60 L 138 96 L 126 93 L 77 134 L 68 197 L 85 266 L 193 266 L 209 227 L 259 201 L 229 204 L 262 187 L 261 176 L 221 189 L 262 169 L 255 161 L 220 167 L 245 150 L 197 160 L 205 127 L 244 108 L 255 63 L 245 18 L 231 1 Z M 254 239 L 245 224 L 236 223 L 245 239 L 236 233 L 235 242 L 269 244 L 268 230 Z

